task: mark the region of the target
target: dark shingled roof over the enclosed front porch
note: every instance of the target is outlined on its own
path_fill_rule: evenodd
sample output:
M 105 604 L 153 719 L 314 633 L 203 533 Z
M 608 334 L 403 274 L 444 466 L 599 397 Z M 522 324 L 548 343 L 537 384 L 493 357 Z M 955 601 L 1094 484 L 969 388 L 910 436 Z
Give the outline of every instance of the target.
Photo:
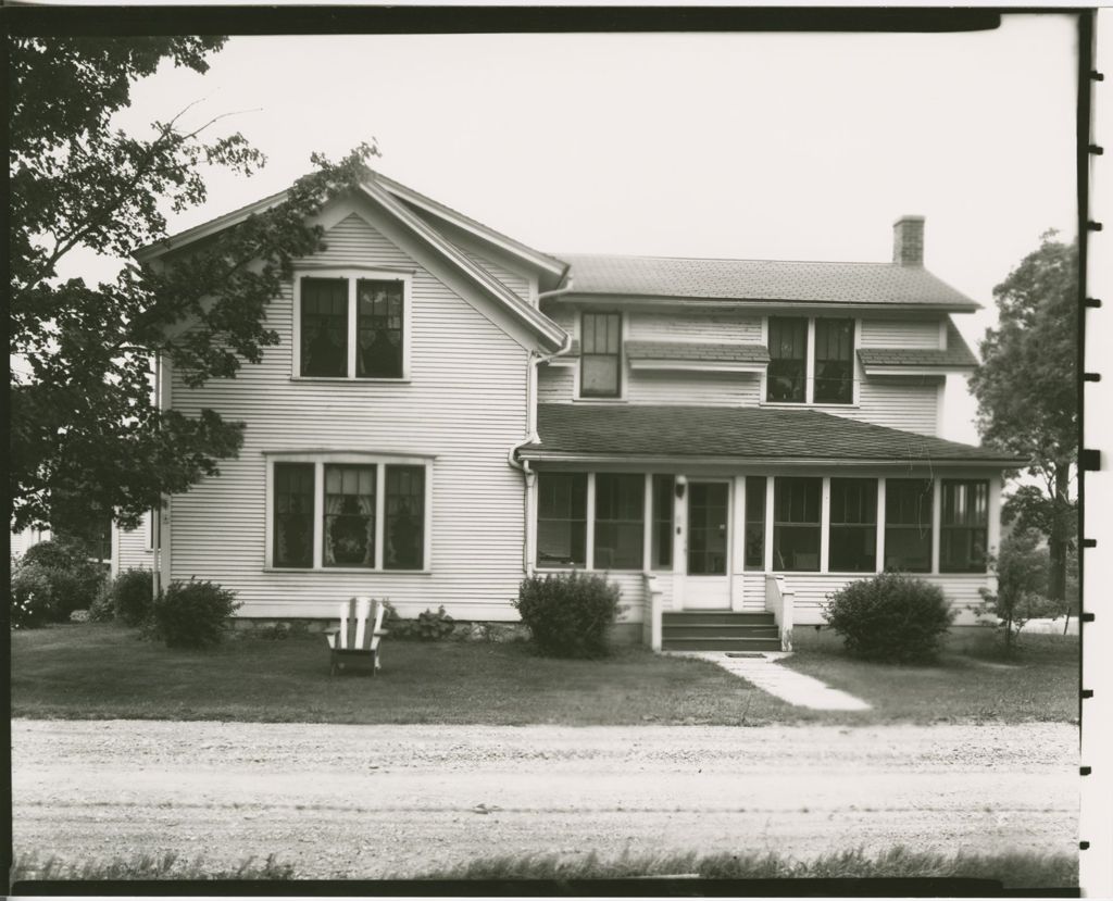
M 700 458 L 778 463 L 932 462 L 1016 467 L 989 447 L 870 425 L 815 409 L 539 404 L 528 459 Z

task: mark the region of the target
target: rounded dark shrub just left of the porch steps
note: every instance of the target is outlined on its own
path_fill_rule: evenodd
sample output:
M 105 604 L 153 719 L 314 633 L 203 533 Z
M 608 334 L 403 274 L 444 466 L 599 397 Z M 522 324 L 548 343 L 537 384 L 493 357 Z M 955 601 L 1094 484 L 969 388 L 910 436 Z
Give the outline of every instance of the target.
M 514 606 L 543 654 L 595 657 L 608 652 L 620 594 L 603 576 L 573 571 L 523 580 Z

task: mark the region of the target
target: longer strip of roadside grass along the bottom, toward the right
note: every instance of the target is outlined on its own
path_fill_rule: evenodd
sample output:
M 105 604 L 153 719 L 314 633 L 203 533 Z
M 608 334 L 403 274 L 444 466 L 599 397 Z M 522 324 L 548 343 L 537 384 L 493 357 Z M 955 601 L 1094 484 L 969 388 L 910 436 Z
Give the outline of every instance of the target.
M 939 854 L 897 846 L 877 854 L 861 849 L 797 860 L 775 852 L 741 854 L 624 854 L 601 860 L 594 853 L 492 857 L 423 873 L 421 879 L 630 879 L 693 875 L 701 879 L 989 879 L 1011 889 L 1078 884 L 1078 864 L 1067 854 Z

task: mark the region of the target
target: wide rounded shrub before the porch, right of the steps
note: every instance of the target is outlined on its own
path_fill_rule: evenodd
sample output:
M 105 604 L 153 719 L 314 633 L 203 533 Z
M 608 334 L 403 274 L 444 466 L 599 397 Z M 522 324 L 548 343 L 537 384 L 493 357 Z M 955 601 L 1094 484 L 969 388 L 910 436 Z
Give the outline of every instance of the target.
M 865 660 L 932 661 L 954 613 L 938 585 L 903 573 L 851 582 L 828 595 L 824 618 Z

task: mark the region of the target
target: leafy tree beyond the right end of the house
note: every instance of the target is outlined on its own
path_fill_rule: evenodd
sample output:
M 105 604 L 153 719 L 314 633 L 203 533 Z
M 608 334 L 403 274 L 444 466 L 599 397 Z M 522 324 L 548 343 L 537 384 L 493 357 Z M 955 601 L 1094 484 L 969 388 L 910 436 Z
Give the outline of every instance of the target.
M 982 341 L 984 362 L 971 390 L 983 439 L 1032 461 L 1026 472 L 1038 483 L 1018 487 L 1002 514 L 1018 529 L 1047 537 L 1047 594 L 1062 601 L 1077 511 L 1072 482 L 1078 459 L 1078 255 L 1076 244 L 1055 235 L 1044 234 L 1040 248 L 993 289 L 999 324 Z

